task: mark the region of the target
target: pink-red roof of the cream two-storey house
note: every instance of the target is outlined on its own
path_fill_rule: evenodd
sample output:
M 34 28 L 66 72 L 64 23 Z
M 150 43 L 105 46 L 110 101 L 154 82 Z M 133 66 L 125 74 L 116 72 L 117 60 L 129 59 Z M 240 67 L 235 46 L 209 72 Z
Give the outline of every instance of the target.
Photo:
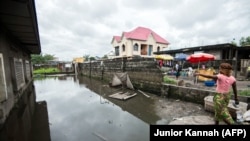
M 160 35 L 152 31 L 151 29 L 145 27 L 137 27 L 136 29 L 130 32 L 123 32 L 122 36 L 126 37 L 127 39 L 146 41 L 150 34 L 152 34 L 153 38 L 157 43 L 169 44 L 169 42 L 162 38 Z M 113 40 L 115 39 L 117 42 L 120 42 L 121 38 L 122 37 L 120 36 L 114 36 Z

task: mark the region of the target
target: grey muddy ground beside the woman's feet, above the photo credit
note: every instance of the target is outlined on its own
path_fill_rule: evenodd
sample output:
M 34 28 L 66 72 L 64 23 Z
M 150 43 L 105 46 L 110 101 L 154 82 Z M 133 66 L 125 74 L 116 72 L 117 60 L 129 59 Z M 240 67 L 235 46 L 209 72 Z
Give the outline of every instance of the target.
M 153 96 L 156 114 L 162 118 L 157 124 L 213 124 L 213 113 L 201 104 Z

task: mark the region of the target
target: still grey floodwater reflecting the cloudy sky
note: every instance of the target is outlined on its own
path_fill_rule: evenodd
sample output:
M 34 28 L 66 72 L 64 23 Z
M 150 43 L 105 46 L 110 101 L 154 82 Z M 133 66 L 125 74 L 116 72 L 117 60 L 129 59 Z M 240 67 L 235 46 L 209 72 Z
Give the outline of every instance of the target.
M 149 141 L 149 125 L 161 120 L 145 96 L 112 99 L 107 95 L 121 89 L 88 77 L 46 77 L 34 85 L 36 101 L 47 102 L 52 141 Z

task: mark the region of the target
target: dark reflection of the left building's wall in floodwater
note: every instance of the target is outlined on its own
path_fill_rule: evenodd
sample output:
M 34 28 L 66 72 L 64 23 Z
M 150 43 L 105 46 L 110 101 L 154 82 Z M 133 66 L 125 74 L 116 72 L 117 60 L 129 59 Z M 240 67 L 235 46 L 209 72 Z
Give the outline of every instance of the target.
M 0 140 L 12 139 L 29 141 L 35 111 L 36 94 L 30 82 L 10 112 L 0 130 Z

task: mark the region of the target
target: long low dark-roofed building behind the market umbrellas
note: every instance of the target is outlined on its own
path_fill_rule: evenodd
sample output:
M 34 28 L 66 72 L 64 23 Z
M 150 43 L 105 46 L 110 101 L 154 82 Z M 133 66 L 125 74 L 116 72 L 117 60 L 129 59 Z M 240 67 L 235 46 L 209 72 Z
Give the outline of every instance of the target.
M 246 75 L 246 70 L 250 66 L 250 46 L 236 46 L 231 43 L 157 51 L 154 54 L 170 54 L 175 57 L 179 53 L 191 55 L 197 52 L 213 54 L 215 60 L 234 60 L 235 71 L 240 71 L 241 75 Z

